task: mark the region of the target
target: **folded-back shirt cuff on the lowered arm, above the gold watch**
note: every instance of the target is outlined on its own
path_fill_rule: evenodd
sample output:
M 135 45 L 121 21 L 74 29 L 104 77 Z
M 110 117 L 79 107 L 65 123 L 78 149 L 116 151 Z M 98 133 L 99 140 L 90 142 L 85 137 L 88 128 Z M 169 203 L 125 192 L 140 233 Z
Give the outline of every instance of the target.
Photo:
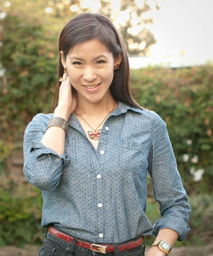
M 160 229 L 167 228 L 176 231 L 179 234 L 178 241 L 183 241 L 190 228 L 185 221 L 176 217 L 163 217 L 155 222 L 153 226 L 153 234 L 158 235 Z

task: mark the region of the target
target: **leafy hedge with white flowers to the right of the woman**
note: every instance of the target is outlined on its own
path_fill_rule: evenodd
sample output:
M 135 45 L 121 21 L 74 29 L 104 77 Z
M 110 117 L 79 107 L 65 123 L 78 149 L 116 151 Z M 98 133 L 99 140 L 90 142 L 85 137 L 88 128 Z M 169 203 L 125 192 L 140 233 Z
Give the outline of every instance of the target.
M 167 124 L 183 185 L 188 193 L 212 191 L 213 66 L 132 70 L 139 104 Z

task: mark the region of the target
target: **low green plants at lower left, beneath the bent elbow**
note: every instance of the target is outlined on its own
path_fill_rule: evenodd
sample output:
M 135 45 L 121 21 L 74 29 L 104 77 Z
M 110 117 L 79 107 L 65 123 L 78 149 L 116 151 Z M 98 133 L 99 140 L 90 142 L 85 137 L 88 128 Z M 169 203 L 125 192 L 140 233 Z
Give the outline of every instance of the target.
M 30 184 L 13 184 L 1 177 L 0 246 L 41 244 L 44 233 L 40 225 L 41 213 L 41 191 Z

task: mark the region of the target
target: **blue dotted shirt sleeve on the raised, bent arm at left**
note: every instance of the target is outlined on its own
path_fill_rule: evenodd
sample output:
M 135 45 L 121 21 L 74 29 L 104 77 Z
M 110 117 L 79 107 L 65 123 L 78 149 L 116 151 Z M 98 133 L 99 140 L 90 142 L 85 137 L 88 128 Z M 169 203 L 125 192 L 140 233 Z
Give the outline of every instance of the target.
M 41 190 L 53 190 L 58 186 L 62 169 L 70 160 L 66 154 L 58 155 L 40 142 L 47 130 L 52 114 L 38 114 L 24 133 L 24 175 Z

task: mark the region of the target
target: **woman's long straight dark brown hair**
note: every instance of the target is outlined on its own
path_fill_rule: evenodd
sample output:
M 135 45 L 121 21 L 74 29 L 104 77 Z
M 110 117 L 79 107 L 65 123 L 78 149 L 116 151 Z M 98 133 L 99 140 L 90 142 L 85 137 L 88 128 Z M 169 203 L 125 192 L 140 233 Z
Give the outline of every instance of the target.
M 59 53 L 63 51 L 63 57 L 77 43 L 89 40 L 98 39 L 104 44 L 113 57 L 116 58 L 121 52 L 122 60 L 119 69 L 114 70 L 114 76 L 110 85 L 112 97 L 115 100 L 127 103 L 133 107 L 142 108 L 132 97 L 129 85 L 129 61 L 127 50 L 123 42 L 123 38 L 117 31 L 112 22 L 101 14 L 92 12 L 84 12 L 71 19 L 61 31 L 59 38 Z M 63 65 L 61 62 L 61 54 L 58 64 L 58 81 L 55 87 L 52 111 L 55 108 L 55 102 L 59 91 L 59 77 L 63 76 Z

